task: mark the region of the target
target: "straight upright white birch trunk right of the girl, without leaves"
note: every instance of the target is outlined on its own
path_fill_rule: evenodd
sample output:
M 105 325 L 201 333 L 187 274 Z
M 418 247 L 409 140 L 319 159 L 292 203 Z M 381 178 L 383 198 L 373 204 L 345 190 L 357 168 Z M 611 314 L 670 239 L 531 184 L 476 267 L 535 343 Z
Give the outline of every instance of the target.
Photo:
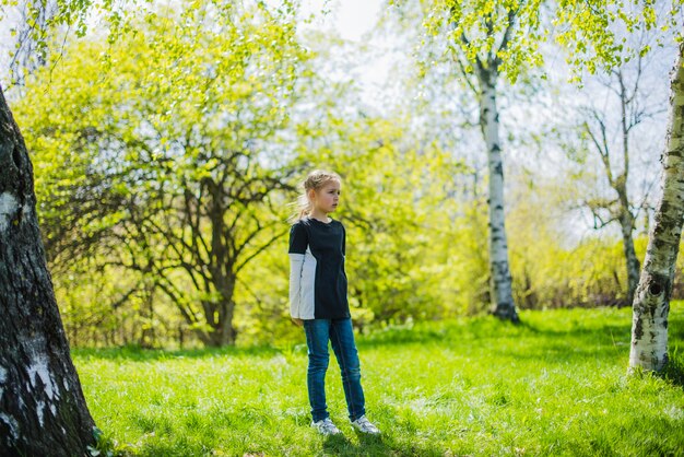
M 481 69 L 481 72 L 486 70 Z M 490 271 L 494 315 L 518 323 L 518 313 L 512 297 L 512 279 L 508 266 L 508 243 L 504 213 L 504 163 L 499 143 L 499 120 L 496 107 L 495 77 L 481 77 L 480 127 L 487 148 L 490 171 Z

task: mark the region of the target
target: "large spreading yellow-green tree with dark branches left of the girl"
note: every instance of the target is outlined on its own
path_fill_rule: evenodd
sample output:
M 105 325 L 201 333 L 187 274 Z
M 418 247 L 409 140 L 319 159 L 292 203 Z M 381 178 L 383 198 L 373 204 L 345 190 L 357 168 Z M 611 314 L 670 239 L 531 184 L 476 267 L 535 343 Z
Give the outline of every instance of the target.
M 283 14 L 196 5 L 109 48 L 80 42 L 17 108 L 51 257 L 152 281 L 209 344 L 234 341 L 236 277 L 285 232 L 282 132 L 306 51 Z

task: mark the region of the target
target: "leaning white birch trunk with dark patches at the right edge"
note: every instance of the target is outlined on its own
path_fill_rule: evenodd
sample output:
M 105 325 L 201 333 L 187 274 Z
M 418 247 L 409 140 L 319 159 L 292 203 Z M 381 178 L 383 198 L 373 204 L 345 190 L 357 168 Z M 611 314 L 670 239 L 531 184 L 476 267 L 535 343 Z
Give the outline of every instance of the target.
M 684 219 L 684 45 L 670 94 L 670 121 L 662 156 L 662 195 L 656 207 L 632 319 L 629 371 L 661 371 L 668 362 L 668 313 Z

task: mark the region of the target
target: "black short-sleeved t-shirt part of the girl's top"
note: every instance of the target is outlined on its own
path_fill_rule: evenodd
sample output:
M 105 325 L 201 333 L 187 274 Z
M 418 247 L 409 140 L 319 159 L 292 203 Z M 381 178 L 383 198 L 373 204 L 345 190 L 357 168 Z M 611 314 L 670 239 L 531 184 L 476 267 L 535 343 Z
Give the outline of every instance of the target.
M 344 319 L 350 317 L 344 272 L 345 231 L 342 223 L 329 223 L 305 218 L 290 231 L 290 254 L 307 253 L 315 259 L 315 276 L 302 278 L 302 286 L 314 288 L 314 308 L 317 319 Z M 306 260 L 305 260 L 306 261 Z M 303 274 L 310 271 L 303 268 Z M 311 285 L 312 284 L 312 285 Z

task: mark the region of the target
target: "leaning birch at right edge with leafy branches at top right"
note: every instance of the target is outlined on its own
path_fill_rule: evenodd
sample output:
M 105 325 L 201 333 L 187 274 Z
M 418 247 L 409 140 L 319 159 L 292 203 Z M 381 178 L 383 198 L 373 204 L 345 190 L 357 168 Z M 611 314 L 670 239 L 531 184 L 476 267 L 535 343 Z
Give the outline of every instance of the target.
M 594 72 L 620 67 L 649 47 L 634 48 L 616 39 L 615 27 L 627 34 L 658 28 L 659 44 L 676 40 L 679 51 L 670 86 L 670 118 L 661 155 L 661 196 L 634 302 L 629 371 L 661 371 L 668 362 L 668 315 L 674 268 L 680 250 L 684 219 L 684 48 L 682 47 L 682 1 L 576 2 L 562 1 L 556 21 L 567 25 L 558 39 L 570 50 L 577 79 L 581 70 Z M 670 42 L 671 43 L 671 42 Z

